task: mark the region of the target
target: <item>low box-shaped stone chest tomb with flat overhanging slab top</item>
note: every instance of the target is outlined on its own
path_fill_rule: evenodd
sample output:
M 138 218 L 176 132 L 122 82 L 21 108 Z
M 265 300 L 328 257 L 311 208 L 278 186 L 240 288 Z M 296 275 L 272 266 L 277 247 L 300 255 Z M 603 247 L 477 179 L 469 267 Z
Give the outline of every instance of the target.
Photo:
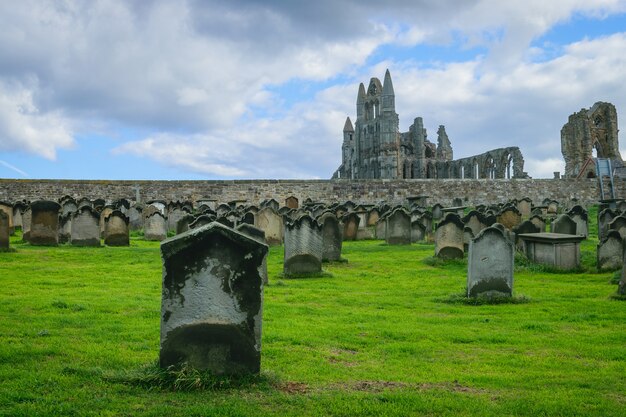
M 584 236 L 563 233 L 522 233 L 526 257 L 533 262 L 558 269 L 574 269 L 580 265 L 580 242 Z

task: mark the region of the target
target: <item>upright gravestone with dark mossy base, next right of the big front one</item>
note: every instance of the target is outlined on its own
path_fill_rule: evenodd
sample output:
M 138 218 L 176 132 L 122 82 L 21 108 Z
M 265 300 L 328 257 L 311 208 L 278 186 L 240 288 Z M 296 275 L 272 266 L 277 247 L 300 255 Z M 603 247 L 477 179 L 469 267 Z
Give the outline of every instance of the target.
M 322 227 L 317 221 L 305 214 L 285 224 L 285 276 L 322 272 L 322 256 Z

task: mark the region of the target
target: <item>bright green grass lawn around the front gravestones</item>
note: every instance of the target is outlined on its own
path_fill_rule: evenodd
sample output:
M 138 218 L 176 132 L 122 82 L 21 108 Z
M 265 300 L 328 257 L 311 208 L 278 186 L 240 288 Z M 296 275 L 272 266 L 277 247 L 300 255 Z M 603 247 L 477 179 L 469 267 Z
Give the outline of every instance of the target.
M 346 242 L 348 262 L 304 279 L 280 277 L 274 247 L 262 373 L 233 380 L 156 367 L 158 242 L 16 236 L 0 253 L 0 415 L 623 416 L 626 302 L 596 243 L 576 273 L 521 262 L 522 302 L 481 305 L 459 301 L 466 261 L 433 245 Z

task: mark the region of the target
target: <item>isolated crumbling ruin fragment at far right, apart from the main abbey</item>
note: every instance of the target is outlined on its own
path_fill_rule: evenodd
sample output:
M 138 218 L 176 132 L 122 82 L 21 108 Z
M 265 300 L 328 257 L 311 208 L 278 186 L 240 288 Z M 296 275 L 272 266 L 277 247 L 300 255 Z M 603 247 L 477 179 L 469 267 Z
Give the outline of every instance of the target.
M 609 159 L 613 169 L 621 168 L 618 131 L 617 111 L 611 103 L 599 101 L 571 114 L 561 129 L 565 177 L 595 178 L 595 158 Z

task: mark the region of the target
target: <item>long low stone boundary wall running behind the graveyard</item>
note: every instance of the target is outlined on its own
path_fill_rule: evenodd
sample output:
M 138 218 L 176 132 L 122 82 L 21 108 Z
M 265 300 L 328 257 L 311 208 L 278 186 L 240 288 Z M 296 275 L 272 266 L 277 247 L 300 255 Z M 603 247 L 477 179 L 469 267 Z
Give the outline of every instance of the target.
M 626 197 L 626 180 L 616 179 L 616 195 Z M 494 204 L 529 197 L 539 205 L 546 199 L 579 204 L 598 201 L 597 179 L 369 179 L 369 180 L 24 180 L 0 178 L 0 201 L 58 200 L 64 195 L 74 198 L 126 198 L 138 202 L 150 200 L 192 201 L 213 199 L 220 203 L 245 200 L 249 204 L 275 198 L 281 205 L 290 196 L 300 203 L 307 198 L 320 202 L 402 204 L 406 197 L 427 195 L 427 203 L 453 205 L 461 199 L 464 205 Z M 458 202 L 458 200 L 457 200 Z

